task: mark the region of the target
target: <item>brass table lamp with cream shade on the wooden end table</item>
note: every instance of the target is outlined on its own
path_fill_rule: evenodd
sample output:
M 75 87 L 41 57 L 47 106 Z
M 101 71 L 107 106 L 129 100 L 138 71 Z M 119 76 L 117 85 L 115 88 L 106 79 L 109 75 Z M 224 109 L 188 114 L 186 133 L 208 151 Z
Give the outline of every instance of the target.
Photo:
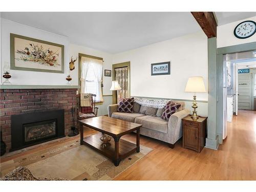
M 196 109 L 197 109 L 196 93 L 205 93 L 206 92 L 205 87 L 204 87 L 203 77 L 189 77 L 187 80 L 185 92 L 194 93 L 194 101 L 193 101 L 193 105 L 192 105 L 192 108 L 194 109 L 194 111 L 193 111 L 193 115 L 191 115 L 190 117 L 193 120 L 197 120 L 199 117 L 198 117 L 197 111 L 196 111 Z

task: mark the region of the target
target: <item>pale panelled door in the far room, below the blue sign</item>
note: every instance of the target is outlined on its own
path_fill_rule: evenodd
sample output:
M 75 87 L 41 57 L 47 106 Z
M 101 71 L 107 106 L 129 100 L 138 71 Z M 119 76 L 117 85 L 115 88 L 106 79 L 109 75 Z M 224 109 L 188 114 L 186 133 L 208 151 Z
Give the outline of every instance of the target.
M 252 110 L 252 73 L 238 74 L 238 109 Z

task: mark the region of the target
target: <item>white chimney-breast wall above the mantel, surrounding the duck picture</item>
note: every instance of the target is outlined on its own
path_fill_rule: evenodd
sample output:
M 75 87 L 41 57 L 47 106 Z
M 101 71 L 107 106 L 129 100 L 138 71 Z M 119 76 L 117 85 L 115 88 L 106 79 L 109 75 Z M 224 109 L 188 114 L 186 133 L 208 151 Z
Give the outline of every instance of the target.
M 32 71 L 11 70 L 12 84 L 37 84 L 37 85 L 63 85 L 67 83 L 66 77 L 69 70 L 69 38 L 63 35 L 50 33 L 26 25 L 18 24 L 1 18 L 1 46 L 2 46 L 2 60 L 1 69 L 4 68 L 5 61 L 10 65 L 10 33 L 24 35 L 32 38 L 55 42 L 65 46 L 64 65 L 65 72 L 63 73 L 44 73 Z M 2 75 L 1 75 L 2 76 Z M 2 81 L 4 78 L 2 77 Z

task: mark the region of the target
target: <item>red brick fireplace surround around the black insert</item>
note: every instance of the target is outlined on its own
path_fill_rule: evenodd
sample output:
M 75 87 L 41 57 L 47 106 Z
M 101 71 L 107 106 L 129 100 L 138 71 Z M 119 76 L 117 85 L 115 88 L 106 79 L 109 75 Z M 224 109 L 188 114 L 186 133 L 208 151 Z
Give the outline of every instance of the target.
M 0 124 L 7 152 L 11 149 L 11 116 L 64 110 L 65 135 L 74 125 L 77 89 L 0 89 Z M 76 113 L 74 114 L 76 124 Z

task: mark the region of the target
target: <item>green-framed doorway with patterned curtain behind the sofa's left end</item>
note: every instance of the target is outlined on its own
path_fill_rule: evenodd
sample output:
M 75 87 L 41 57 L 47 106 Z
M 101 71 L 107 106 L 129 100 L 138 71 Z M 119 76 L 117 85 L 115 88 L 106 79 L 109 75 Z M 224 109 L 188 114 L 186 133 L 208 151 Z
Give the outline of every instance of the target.
M 120 91 L 113 91 L 113 104 L 116 104 L 119 97 L 130 97 L 131 95 L 131 75 L 130 75 L 130 61 L 116 63 L 112 65 L 113 77 L 112 80 L 117 80 Z

